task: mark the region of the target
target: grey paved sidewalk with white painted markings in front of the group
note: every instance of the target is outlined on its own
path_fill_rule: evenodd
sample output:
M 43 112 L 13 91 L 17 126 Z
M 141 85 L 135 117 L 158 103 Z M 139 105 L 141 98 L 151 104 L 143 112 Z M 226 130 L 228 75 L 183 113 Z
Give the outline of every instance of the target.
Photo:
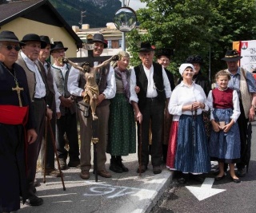
M 162 165 L 162 173 L 154 175 L 152 166 L 149 165 L 148 170 L 140 177 L 136 172 L 137 154 L 122 159 L 129 172 L 118 174 L 110 171 L 112 178 L 98 176 L 98 182 L 94 180 L 92 169 L 90 179 L 87 180 L 80 178 L 80 169 L 70 168 L 63 171 L 66 191 L 63 191 L 60 178 L 46 176 L 46 183 L 42 183 L 43 176 L 38 172 L 37 180 L 41 186 L 37 187 L 37 193 L 44 203 L 39 207 L 22 205 L 18 212 L 150 212 L 169 186 L 172 172 Z M 109 162 L 110 159 L 107 160 Z M 106 164 L 106 168 L 109 168 L 109 164 Z

